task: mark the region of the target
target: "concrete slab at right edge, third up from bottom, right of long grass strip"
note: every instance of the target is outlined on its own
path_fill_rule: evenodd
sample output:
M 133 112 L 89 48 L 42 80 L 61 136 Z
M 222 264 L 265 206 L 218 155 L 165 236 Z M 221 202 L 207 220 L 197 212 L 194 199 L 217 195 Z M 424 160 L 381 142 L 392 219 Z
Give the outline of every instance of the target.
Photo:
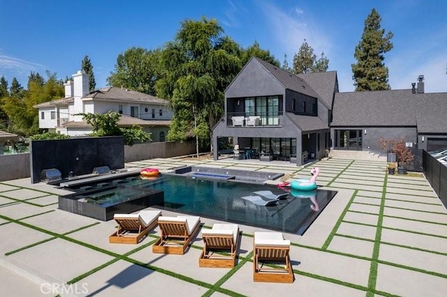
M 381 241 L 384 243 L 405 245 L 410 248 L 420 248 L 423 250 L 447 253 L 447 238 L 440 238 L 437 236 L 382 229 Z

